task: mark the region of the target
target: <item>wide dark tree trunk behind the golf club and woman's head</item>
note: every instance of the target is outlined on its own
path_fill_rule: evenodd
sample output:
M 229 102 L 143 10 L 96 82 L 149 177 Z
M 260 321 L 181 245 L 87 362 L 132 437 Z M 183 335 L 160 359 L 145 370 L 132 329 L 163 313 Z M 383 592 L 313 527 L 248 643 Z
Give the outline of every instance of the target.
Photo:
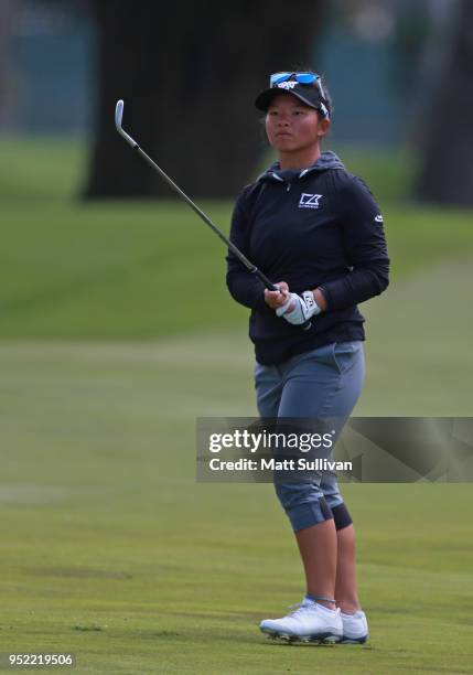
M 235 196 L 262 132 L 252 101 L 272 71 L 311 63 L 325 0 L 89 0 L 98 107 L 86 197 L 172 193 L 118 137 L 123 127 L 193 196 Z

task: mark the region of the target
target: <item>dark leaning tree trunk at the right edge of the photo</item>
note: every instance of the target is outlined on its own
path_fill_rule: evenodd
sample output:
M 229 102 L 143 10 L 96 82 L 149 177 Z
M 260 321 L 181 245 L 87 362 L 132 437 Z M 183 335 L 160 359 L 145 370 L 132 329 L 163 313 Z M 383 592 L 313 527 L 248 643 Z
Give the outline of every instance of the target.
M 459 7 L 451 54 L 429 106 L 417 196 L 473 205 L 473 2 Z

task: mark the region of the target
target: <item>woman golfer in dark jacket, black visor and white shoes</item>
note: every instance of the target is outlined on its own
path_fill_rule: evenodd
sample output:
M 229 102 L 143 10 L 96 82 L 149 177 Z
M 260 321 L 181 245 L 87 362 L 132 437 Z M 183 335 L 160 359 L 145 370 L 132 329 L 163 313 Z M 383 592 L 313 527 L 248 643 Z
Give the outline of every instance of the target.
M 230 238 L 280 291 L 266 290 L 232 254 L 227 285 L 251 309 L 258 411 L 345 421 L 365 375 L 357 304 L 388 286 L 383 216 L 365 183 L 321 151 L 332 106 L 319 75 L 276 73 L 255 105 L 279 161 L 239 194 Z M 261 631 L 289 641 L 365 642 L 355 532 L 335 475 L 314 472 L 275 488 L 307 589 L 298 609 L 262 621 Z

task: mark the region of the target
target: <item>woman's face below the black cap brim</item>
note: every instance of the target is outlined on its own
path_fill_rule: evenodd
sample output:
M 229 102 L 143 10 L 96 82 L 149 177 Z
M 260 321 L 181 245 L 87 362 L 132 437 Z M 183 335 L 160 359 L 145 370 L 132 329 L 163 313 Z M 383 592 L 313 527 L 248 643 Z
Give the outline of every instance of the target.
M 329 121 L 291 94 L 275 96 L 266 114 L 266 133 L 279 152 L 298 152 L 316 146 L 325 136 Z

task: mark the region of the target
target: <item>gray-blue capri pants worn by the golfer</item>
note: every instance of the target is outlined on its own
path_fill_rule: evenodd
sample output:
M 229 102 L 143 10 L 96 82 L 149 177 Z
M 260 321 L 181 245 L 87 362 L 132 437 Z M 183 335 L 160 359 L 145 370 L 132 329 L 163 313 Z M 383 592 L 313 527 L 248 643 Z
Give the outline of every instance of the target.
M 255 366 L 255 387 L 260 417 L 336 417 L 342 430 L 358 400 L 365 379 L 361 341 L 332 342 L 292 356 L 279 365 Z M 275 481 L 276 493 L 292 529 L 298 532 L 333 517 L 343 504 L 335 473 L 313 481 Z M 350 517 L 350 516 L 348 516 Z

